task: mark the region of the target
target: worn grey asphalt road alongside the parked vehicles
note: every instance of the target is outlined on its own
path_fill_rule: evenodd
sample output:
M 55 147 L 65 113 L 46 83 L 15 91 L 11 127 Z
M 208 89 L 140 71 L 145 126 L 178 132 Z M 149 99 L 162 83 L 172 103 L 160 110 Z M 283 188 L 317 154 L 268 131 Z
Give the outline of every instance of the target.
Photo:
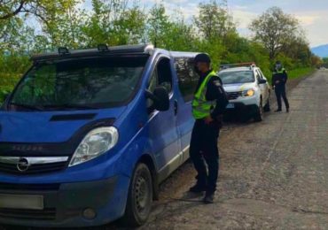
M 185 192 L 195 176 L 186 163 L 139 229 L 328 229 L 328 71 L 295 82 L 289 113 L 224 126 L 214 204 Z

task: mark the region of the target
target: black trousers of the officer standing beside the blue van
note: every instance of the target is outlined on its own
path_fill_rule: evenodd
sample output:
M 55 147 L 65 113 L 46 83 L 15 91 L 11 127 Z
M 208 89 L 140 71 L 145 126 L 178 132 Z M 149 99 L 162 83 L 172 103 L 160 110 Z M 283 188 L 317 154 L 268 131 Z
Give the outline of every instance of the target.
M 196 120 L 191 133 L 190 157 L 198 173 L 197 184 L 205 186 L 207 192 L 216 190 L 219 173 L 219 149 L 217 148 L 219 134 L 220 126 L 217 122 L 207 125 L 204 119 Z

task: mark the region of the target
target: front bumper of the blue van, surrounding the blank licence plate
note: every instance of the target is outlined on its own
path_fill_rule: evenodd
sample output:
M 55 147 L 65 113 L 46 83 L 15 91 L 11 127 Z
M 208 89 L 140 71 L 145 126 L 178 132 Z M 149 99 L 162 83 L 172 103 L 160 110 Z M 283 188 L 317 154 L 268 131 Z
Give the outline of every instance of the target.
M 43 210 L 0 208 L 0 224 L 15 226 L 100 226 L 119 219 L 126 205 L 129 178 L 75 183 L 4 184 L 0 194 L 43 196 Z

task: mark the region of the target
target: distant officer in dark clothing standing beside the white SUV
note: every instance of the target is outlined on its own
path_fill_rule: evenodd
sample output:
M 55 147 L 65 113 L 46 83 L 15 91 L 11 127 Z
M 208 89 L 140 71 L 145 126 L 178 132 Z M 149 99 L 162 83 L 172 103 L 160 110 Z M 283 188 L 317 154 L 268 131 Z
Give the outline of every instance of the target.
M 275 89 L 275 93 L 277 96 L 277 111 L 281 111 L 281 97 L 283 97 L 285 102 L 285 110 L 289 112 L 289 103 L 287 96 L 285 95 L 285 83 L 287 82 L 287 79 L 288 76 L 287 72 L 285 71 L 285 68 L 283 67 L 280 61 L 277 61 L 271 82 L 272 88 Z

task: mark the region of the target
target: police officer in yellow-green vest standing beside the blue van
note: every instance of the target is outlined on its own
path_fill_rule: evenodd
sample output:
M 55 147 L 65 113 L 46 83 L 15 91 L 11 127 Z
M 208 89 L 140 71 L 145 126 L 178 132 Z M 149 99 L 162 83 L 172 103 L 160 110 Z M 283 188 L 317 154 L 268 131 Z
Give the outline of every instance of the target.
M 204 203 L 213 203 L 219 171 L 217 139 L 228 99 L 222 81 L 210 68 L 208 55 L 197 55 L 194 63 L 200 78 L 192 100 L 192 115 L 196 121 L 191 133 L 190 157 L 198 175 L 190 191 L 206 191 Z

